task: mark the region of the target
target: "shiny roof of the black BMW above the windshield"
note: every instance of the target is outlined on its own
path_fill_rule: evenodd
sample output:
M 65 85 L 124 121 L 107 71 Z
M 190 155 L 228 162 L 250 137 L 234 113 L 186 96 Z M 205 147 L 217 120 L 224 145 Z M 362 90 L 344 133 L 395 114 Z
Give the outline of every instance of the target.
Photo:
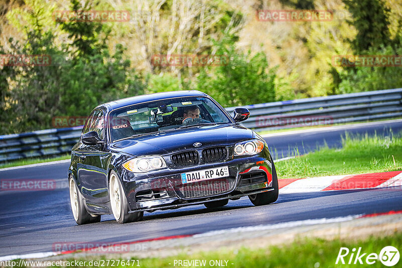
M 109 106 L 112 110 L 125 107 L 128 105 L 133 105 L 137 103 L 143 103 L 148 101 L 154 101 L 159 99 L 169 99 L 169 98 L 177 98 L 177 97 L 190 97 L 190 96 L 208 96 L 204 92 L 198 90 L 179 90 L 179 91 L 168 91 L 168 92 L 159 92 L 153 94 L 146 95 L 138 95 L 133 97 L 128 97 L 124 99 L 113 100 L 99 106 Z M 99 107 L 98 106 L 98 107 Z

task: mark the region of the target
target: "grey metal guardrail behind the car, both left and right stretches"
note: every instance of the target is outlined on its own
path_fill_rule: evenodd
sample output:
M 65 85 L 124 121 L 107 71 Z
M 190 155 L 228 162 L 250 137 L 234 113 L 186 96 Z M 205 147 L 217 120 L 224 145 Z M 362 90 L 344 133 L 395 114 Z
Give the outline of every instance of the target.
M 314 97 L 242 106 L 250 118 L 242 122 L 255 130 L 322 125 L 402 116 L 402 88 Z M 233 112 L 236 107 L 226 108 Z M 0 163 L 70 152 L 82 126 L 45 129 L 0 136 Z

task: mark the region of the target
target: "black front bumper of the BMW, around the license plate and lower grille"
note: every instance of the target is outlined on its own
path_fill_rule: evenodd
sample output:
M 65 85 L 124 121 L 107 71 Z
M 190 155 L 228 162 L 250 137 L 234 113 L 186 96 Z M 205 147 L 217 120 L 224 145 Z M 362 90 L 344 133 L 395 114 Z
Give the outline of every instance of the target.
M 198 165 L 195 167 L 181 169 L 166 169 L 153 173 L 143 174 L 137 177 L 130 177 L 129 172 L 124 175 L 123 186 L 130 206 L 130 212 L 147 211 L 156 209 L 175 209 L 182 206 L 203 204 L 209 201 L 224 199 L 238 199 L 242 196 L 257 194 L 274 190 L 272 188 L 273 178 L 271 157 L 268 150 L 263 150 L 259 155 L 244 158 L 235 158 L 229 161 L 213 164 Z M 194 184 L 198 188 L 191 188 L 194 192 L 189 192 L 190 196 L 183 194 L 181 183 L 181 173 L 198 170 L 229 167 L 227 178 L 212 179 L 197 182 Z M 219 186 L 221 189 L 212 191 L 205 195 L 198 189 L 209 187 L 209 183 L 217 183 L 218 180 L 229 184 Z M 215 181 L 215 182 L 214 182 Z M 204 187 L 205 186 L 205 187 Z M 204 188 L 203 188 L 204 187 Z M 188 195 L 188 191 L 187 191 Z

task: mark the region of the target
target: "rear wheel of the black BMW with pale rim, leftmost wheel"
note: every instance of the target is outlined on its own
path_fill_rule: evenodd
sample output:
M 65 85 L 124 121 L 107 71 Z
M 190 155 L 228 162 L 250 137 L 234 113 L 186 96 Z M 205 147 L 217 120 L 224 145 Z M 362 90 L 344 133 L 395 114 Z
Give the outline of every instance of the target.
M 81 195 L 81 192 L 78 190 L 77 185 L 75 184 L 74 179 L 71 177 L 69 181 L 69 189 L 70 189 L 70 205 L 72 215 L 74 217 L 75 222 L 78 225 L 94 223 L 100 221 L 100 215 L 96 215 L 92 217 L 84 206 L 84 200 Z

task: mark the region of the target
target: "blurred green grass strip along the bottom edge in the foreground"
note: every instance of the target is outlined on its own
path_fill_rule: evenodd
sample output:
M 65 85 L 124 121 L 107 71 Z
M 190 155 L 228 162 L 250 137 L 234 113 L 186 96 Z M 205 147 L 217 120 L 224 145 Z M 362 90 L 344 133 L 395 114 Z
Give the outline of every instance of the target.
M 322 238 L 297 238 L 291 243 L 285 243 L 278 246 L 269 246 L 267 248 L 245 248 L 229 250 L 229 249 L 218 249 L 207 252 L 197 252 L 194 254 L 178 254 L 171 257 L 164 258 L 136 258 L 132 257 L 135 261 L 135 265 L 130 265 L 131 267 L 178 267 L 177 263 L 173 266 L 175 260 L 206 260 L 206 267 L 211 267 L 209 265 L 211 260 L 227 260 L 227 267 L 282 267 L 282 268 L 294 268 L 294 267 L 385 267 L 379 260 L 372 265 L 365 263 L 365 258 L 370 253 L 376 253 L 379 255 L 381 249 L 384 246 L 394 246 L 397 249 L 401 249 L 402 244 L 402 232 L 395 232 L 393 235 L 378 237 L 370 236 L 365 239 L 360 240 L 350 240 L 350 239 L 333 239 L 326 240 Z M 349 254 L 344 257 L 345 264 L 338 262 L 335 264 L 339 250 L 341 247 L 349 248 Z M 361 247 L 361 254 L 367 253 L 363 258 L 363 264 L 348 264 L 352 249 L 358 249 Z M 357 250 L 356 250 L 357 251 Z M 354 254 L 355 256 L 356 254 Z M 86 261 L 86 265 L 71 265 L 69 267 L 96 267 L 95 265 L 88 265 L 88 261 L 99 261 L 105 260 L 104 267 L 123 267 L 123 265 L 117 265 L 115 261 L 112 266 L 111 260 L 110 265 L 107 264 L 107 260 L 104 256 L 101 257 L 81 257 L 77 258 L 76 261 Z M 118 258 L 115 258 L 118 259 Z M 67 259 L 74 262 L 73 258 Z M 125 260 L 127 261 L 127 260 Z M 400 264 L 402 259 L 399 260 Z M 131 264 L 134 261 L 130 262 Z M 225 263 L 225 261 L 223 262 Z M 233 264 L 232 264 L 233 263 Z M 74 264 L 74 263 L 73 263 Z M 84 263 L 81 263 L 84 264 Z M 394 267 L 398 267 L 396 264 Z M 128 266 L 128 265 L 126 265 Z M 194 266 L 193 266 L 194 267 Z

